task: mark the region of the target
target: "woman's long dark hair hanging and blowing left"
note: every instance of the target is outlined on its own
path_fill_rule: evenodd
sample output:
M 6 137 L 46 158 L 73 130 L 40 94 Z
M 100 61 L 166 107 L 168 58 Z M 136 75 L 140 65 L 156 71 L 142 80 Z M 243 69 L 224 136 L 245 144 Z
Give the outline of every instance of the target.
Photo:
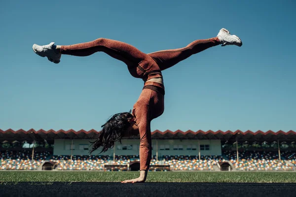
M 121 138 L 124 132 L 135 123 L 134 116 L 129 112 L 123 112 L 114 114 L 104 125 L 102 125 L 102 131 L 97 133 L 98 139 L 92 143 L 92 149 L 89 151 L 91 154 L 101 146 L 103 147 L 102 152 L 106 152 L 109 148 L 114 147 L 115 141 L 121 143 Z M 99 154 L 100 154 L 99 153 Z

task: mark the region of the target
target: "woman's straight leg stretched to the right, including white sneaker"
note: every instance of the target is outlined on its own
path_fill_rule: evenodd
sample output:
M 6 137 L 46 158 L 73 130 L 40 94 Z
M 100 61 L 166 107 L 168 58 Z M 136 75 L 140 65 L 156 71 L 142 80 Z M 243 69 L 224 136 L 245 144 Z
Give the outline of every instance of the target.
M 221 29 L 217 37 L 203 40 L 195 40 L 184 48 L 157 51 L 149 53 L 150 56 L 159 66 L 160 70 L 167 69 L 185 60 L 193 54 L 204 51 L 210 47 L 222 44 L 242 46 L 242 42 L 236 35 L 231 35 L 229 31 Z

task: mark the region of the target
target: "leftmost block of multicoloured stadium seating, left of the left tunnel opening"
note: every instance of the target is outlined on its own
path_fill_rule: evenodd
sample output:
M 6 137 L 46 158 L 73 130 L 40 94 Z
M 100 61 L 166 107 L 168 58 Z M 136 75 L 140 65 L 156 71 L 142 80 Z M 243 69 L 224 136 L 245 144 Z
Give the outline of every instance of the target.
M 35 152 L 32 161 L 31 151 L 5 151 L 0 154 L 0 169 L 34 170 L 49 156 L 49 152 Z

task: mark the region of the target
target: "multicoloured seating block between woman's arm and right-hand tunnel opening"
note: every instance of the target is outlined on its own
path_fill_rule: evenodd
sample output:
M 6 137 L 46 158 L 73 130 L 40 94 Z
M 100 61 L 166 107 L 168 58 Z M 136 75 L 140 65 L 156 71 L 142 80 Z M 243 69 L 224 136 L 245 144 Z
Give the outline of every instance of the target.
M 213 166 L 224 161 L 221 156 L 164 156 L 164 164 L 172 170 L 214 170 Z

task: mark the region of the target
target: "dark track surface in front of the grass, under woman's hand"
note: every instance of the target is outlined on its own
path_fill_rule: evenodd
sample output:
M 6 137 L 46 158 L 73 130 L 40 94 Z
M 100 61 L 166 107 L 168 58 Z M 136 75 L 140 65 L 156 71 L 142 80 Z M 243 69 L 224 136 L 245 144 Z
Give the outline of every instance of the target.
M 0 182 L 0 197 L 296 197 L 291 183 Z

